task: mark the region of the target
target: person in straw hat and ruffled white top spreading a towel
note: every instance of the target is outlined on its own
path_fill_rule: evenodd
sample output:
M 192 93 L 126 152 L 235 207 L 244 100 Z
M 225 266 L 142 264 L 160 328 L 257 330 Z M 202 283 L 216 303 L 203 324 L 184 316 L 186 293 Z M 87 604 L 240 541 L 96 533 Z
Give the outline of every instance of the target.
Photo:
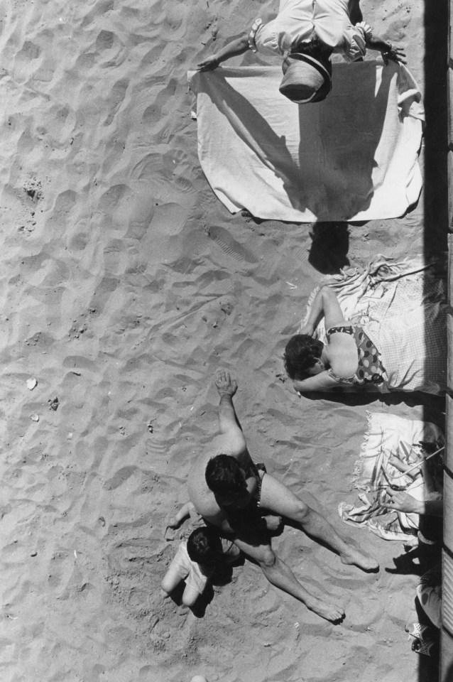
M 332 53 L 351 63 L 363 60 L 370 49 L 380 52 L 386 63 L 405 63 L 402 48 L 373 34 L 361 20 L 359 0 L 280 0 L 272 21 L 257 18 L 249 31 L 198 66 L 212 70 L 247 50 L 279 55 L 283 57 L 281 94 L 296 104 L 321 102 L 332 90 Z

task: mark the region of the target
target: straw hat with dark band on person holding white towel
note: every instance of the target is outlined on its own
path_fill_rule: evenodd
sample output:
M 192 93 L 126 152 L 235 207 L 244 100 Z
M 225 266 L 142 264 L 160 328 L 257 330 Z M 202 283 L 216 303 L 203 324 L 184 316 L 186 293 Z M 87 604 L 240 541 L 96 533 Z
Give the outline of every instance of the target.
M 279 90 L 295 104 L 321 102 L 332 90 L 330 69 L 310 55 L 294 52 L 285 59 L 282 69 Z

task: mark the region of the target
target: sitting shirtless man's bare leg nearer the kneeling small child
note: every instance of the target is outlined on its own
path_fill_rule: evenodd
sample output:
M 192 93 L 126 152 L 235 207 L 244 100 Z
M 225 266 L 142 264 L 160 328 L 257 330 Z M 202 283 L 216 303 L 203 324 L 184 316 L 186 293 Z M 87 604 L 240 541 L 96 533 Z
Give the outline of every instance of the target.
M 339 622 L 344 618 L 344 610 L 341 607 L 329 605 L 307 592 L 284 561 L 273 553 L 269 543 L 263 541 L 259 545 L 252 545 L 239 538 L 236 538 L 234 543 L 246 556 L 259 564 L 269 583 L 275 585 L 276 588 L 287 592 L 288 595 L 305 604 L 307 609 L 332 623 Z

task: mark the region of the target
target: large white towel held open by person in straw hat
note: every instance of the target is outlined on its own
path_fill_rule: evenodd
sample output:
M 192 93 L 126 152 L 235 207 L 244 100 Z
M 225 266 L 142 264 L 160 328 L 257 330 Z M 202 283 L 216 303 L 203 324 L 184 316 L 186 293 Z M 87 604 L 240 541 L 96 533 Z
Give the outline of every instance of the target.
M 381 59 L 332 67 L 332 93 L 304 106 L 278 92 L 280 66 L 189 72 L 200 164 L 229 211 L 371 220 L 417 201 L 424 114 L 412 75 Z

